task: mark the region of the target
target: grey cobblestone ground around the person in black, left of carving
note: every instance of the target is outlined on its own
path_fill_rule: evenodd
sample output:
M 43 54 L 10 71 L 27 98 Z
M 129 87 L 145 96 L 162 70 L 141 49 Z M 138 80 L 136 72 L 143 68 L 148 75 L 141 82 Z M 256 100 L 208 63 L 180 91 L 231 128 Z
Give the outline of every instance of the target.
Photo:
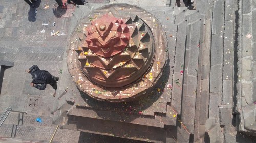
M 34 5 L 36 8 L 23 0 L 0 1 L 0 60 L 14 62 L 4 71 L 0 112 L 2 115 L 7 107 L 28 112 L 10 113 L 0 133 L 4 137 L 49 140 L 56 127 L 52 125 L 51 110 L 58 101 L 49 85 L 44 91 L 31 87 L 31 75 L 25 70 L 36 64 L 54 76 L 61 75 L 70 19 L 76 7 L 68 4 L 67 9 L 61 9 L 50 0 L 38 0 Z M 59 33 L 52 36 L 55 32 Z M 37 117 L 43 120 L 42 124 L 35 121 Z M 79 141 L 79 131 L 58 132 L 55 141 Z

